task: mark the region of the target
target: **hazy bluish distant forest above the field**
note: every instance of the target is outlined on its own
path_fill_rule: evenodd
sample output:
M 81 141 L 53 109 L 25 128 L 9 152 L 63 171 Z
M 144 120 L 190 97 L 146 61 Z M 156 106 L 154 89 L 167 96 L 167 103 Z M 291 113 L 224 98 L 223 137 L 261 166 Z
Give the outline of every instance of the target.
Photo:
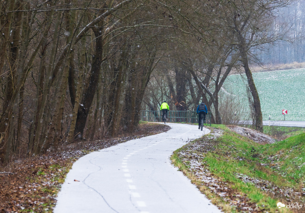
M 258 51 L 260 62 L 273 65 L 305 62 L 305 1 L 298 0 L 279 8 L 273 29 L 287 33 L 282 40 L 262 46 Z

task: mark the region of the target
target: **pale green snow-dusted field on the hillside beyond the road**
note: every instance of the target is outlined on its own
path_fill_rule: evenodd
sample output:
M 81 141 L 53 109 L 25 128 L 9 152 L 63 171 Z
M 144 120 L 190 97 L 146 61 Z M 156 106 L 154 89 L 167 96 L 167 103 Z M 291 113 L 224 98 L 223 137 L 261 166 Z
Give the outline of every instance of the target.
M 277 70 L 253 73 L 261 101 L 263 120 L 283 120 L 282 110 L 287 109 L 286 120 L 305 120 L 305 69 Z M 247 106 L 245 84 L 247 78 L 230 75 L 224 83 L 224 90 L 238 95 Z M 247 107 L 248 108 L 248 107 Z

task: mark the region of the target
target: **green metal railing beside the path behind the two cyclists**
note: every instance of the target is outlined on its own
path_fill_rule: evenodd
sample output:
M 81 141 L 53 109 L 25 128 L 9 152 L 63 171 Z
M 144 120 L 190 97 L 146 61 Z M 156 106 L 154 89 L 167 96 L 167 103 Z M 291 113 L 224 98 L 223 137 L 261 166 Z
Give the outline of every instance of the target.
M 162 122 L 162 111 L 144 111 L 140 112 L 142 121 Z M 167 122 L 170 123 L 198 123 L 196 111 L 168 111 Z M 206 123 L 211 126 L 211 112 L 207 112 Z

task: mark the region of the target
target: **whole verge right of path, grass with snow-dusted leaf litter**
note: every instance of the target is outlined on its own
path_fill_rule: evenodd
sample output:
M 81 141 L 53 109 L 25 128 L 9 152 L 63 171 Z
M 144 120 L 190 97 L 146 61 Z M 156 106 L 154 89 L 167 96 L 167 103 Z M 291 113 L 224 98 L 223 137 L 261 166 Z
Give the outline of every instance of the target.
M 293 211 L 304 212 L 305 133 L 270 144 L 212 126 L 211 134 L 171 157 L 212 203 L 225 212 L 276 212 L 281 202 L 300 205 Z

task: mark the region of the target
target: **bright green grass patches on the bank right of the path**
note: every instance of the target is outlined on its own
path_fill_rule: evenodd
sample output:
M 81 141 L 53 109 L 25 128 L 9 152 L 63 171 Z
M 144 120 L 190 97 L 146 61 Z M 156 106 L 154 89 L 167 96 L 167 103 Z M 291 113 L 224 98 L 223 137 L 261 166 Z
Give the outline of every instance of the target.
M 290 187 L 302 191 L 305 173 L 305 133 L 274 144 L 261 145 L 240 137 L 224 125 L 213 126 L 225 130 L 224 135 L 217 139 L 215 150 L 202 153 L 202 155 L 205 156 L 203 164 L 216 177 L 228 182 L 233 189 L 247 195 L 252 202 L 262 207 L 263 211 L 273 212 L 278 210 L 277 202 L 288 202 L 285 201 L 285 197 L 273 197 L 252 183 L 244 183 L 236 174 L 267 180 L 280 188 Z M 178 152 L 179 150 L 175 151 L 175 155 L 172 157 L 172 159 L 176 158 L 176 162 L 179 162 L 178 155 L 176 155 Z M 186 170 L 187 164 L 184 163 L 182 168 Z M 205 192 L 205 194 L 207 193 Z M 215 203 L 221 204 L 220 200 Z M 304 203 L 302 197 L 294 197 L 292 200 Z M 233 207 L 230 211 L 235 211 L 234 209 Z

